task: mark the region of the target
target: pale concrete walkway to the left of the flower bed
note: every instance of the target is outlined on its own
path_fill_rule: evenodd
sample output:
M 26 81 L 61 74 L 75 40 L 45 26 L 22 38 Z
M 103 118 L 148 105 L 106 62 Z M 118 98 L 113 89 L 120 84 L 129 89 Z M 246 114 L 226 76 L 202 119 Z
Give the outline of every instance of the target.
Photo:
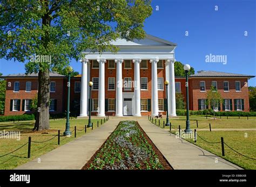
M 80 136 L 16 169 L 82 169 L 114 131 L 120 119 L 113 118 L 92 132 Z

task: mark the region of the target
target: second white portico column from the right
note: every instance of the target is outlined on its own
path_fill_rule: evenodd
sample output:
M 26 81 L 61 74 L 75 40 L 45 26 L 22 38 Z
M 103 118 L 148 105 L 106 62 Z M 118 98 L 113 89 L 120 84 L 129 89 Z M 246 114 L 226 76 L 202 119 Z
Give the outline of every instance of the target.
M 158 89 L 157 89 L 157 62 L 159 59 L 151 59 L 151 116 L 158 116 Z

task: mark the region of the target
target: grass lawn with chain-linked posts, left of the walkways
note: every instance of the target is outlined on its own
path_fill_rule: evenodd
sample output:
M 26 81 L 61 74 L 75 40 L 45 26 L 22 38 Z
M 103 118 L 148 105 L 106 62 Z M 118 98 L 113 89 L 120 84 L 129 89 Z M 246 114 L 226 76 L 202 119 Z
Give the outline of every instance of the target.
M 100 127 L 100 119 L 92 119 L 93 129 L 97 128 L 97 120 L 99 121 Z M 31 136 L 32 141 L 45 141 L 53 138 L 53 136 L 58 134 L 58 130 L 60 130 L 60 145 L 58 145 L 58 137 L 56 136 L 50 141 L 43 143 L 31 143 L 31 157 L 28 156 L 28 145 L 25 145 L 21 149 L 16 152 L 0 157 L 0 169 L 14 169 L 21 164 L 29 162 L 35 158 L 39 158 L 41 155 L 50 152 L 50 150 L 55 149 L 65 143 L 68 143 L 75 139 L 75 132 L 72 132 L 70 138 L 63 136 L 63 132 L 65 131 L 65 119 L 58 120 L 50 120 L 50 130 L 33 132 L 33 125 L 35 121 L 21 121 L 19 123 L 13 122 L 1 122 L 0 123 L 0 131 L 20 131 L 21 132 L 21 140 L 17 139 L 0 139 L 0 156 L 5 155 L 7 153 L 12 152 L 13 150 L 21 147 L 26 142 L 28 142 L 29 136 Z M 104 123 L 104 119 L 103 119 Z M 77 127 L 77 137 L 85 134 L 84 130 L 82 130 L 88 124 L 88 119 L 72 119 L 70 120 L 70 131 L 73 131 L 75 126 Z M 82 131 L 78 131 L 82 130 Z M 86 133 L 90 133 L 91 128 L 87 128 Z

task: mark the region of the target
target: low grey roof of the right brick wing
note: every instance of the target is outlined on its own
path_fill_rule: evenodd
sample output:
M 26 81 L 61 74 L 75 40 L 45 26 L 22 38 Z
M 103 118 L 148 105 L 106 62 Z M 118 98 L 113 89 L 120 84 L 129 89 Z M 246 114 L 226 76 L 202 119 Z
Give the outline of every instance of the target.
M 233 74 L 233 73 L 225 73 L 218 71 L 198 71 L 196 74 L 190 75 L 190 77 L 255 77 L 253 75 L 244 75 L 244 74 Z

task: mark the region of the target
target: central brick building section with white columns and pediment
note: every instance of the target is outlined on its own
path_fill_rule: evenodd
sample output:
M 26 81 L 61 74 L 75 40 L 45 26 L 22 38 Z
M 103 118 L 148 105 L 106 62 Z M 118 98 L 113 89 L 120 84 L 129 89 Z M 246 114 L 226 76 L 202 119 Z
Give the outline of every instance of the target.
M 89 113 L 89 82 L 92 115 L 176 116 L 174 49 L 176 44 L 147 34 L 145 39 L 112 42 L 117 53 L 85 51 L 82 62 L 80 117 Z M 164 81 L 169 81 L 168 100 Z M 168 105 L 167 105 L 168 103 Z

